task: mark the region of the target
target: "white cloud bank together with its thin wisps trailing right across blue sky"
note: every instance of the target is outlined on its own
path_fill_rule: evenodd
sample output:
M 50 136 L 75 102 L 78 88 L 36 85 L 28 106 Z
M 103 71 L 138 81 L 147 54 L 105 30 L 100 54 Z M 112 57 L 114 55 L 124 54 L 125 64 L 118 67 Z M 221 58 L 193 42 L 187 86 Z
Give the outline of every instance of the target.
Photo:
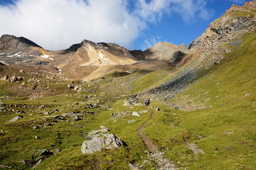
M 134 9 L 129 3 L 134 4 Z M 48 50 L 67 49 L 83 39 L 128 49 L 135 39 L 176 12 L 185 22 L 207 20 L 206 0 L 16 0 L 0 6 L 0 35 L 22 36 Z M 151 45 L 146 40 L 145 45 Z M 154 45 L 154 44 L 153 44 Z M 149 47 L 149 46 L 148 46 Z

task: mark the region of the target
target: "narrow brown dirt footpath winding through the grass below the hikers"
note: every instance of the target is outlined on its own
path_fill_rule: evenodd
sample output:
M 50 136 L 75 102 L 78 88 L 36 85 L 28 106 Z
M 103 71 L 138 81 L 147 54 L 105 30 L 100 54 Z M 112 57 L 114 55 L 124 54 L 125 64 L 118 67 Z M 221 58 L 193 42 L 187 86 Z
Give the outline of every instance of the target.
M 145 108 L 145 107 L 144 107 Z M 147 120 L 147 121 L 145 121 L 142 125 L 141 125 L 141 127 L 139 128 L 139 129 L 137 129 L 137 133 L 138 133 L 138 135 L 140 136 L 140 138 L 142 139 L 142 141 L 143 141 L 143 143 L 146 145 L 146 147 L 148 147 L 148 149 L 152 152 L 152 153 L 156 153 L 156 147 L 154 146 L 154 144 L 152 143 L 152 141 L 146 136 L 146 135 L 144 135 L 144 134 L 142 134 L 142 130 L 144 129 L 144 127 L 146 126 L 146 124 L 148 123 L 148 121 L 150 120 L 150 119 L 152 119 L 152 117 L 155 115 L 155 112 L 154 111 L 152 111 L 151 113 L 150 113 L 150 118 Z

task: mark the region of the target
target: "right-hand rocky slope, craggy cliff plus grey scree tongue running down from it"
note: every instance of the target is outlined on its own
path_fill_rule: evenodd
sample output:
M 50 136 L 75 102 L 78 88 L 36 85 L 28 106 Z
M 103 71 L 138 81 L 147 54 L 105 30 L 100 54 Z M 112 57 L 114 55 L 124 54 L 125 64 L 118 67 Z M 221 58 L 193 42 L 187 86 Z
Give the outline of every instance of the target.
M 210 23 L 204 33 L 195 39 L 189 49 L 200 49 L 200 58 L 164 84 L 138 95 L 143 99 L 166 100 L 173 98 L 190 84 L 198 80 L 201 74 L 210 72 L 210 68 L 219 64 L 224 55 L 240 44 L 240 37 L 256 31 L 256 2 L 246 2 L 239 7 L 232 5 L 220 18 Z M 242 62 L 242 61 L 241 61 Z

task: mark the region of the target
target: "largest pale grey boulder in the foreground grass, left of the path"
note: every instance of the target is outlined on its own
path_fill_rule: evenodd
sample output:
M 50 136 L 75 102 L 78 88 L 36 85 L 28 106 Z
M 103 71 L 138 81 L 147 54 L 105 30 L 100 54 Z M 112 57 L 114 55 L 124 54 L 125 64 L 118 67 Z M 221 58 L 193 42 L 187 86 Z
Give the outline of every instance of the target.
M 99 152 L 101 149 L 116 149 L 124 145 L 124 143 L 114 134 L 108 134 L 109 129 L 100 126 L 99 130 L 88 132 L 86 139 L 82 144 L 81 151 L 85 153 Z

